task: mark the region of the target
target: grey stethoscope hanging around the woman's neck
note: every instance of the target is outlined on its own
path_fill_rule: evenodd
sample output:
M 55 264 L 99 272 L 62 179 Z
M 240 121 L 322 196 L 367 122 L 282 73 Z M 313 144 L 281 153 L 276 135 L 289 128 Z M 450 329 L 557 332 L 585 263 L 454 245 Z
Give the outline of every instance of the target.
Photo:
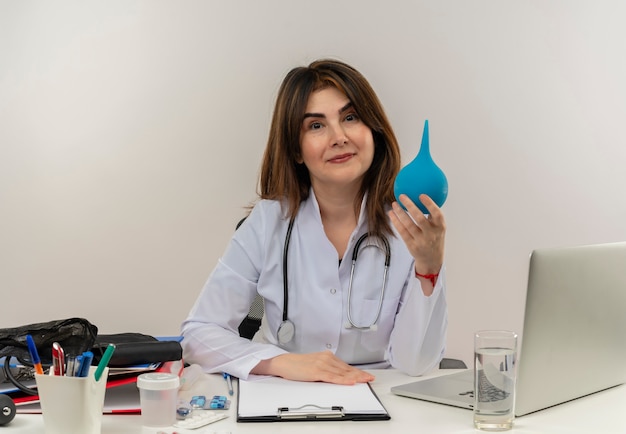
M 289 282 L 287 279 L 287 257 L 289 252 L 289 242 L 291 241 L 291 231 L 293 229 L 295 218 L 289 221 L 287 227 L 287 235 L 285 235 L 285 246 L 283 247 L 283 320 L 278 326 L 276 337 L 280 344 L 287 344 L 293 340 L 296 333 L 296 326 L 289 319 Z M 385 270 L 383 273 L 383 284 L 380 290 L 380 297 L 378 298 L 378 309 L 374 320 L 369 325 L 357 325 L 352 319 L 352 279 L 354 277 L 354 269 L 356 267 L 356 261 L 359 255 L 361 244 L 363 244 L 370 234 L 366 233 L 361 235 L 357 240 L 354 248 L 352 249 L 352 266 L 350 268 L 350 283 L 348 284 L 348 324 L 346 327 L 355 328 L 359 330 L 376 330 L 378 318 L 380 317 L 380 311 L 383 306 L 383 298 L 385 296 L 385 290 L 387 289 L 387 271 L 389 270 L 389 263 L 391 262 L 391 249 L 389 248 L 389 241 L 385 237 L 379 237 L 383 243 L 383 247 L 380 247 L 376 243 L 366 244 L 363 248 L 376 247 L 385 253 Z

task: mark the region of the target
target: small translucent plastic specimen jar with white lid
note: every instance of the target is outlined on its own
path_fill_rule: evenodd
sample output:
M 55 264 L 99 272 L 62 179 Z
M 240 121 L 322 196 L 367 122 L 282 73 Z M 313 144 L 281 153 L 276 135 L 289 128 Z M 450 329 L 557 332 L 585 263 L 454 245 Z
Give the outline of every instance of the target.
M 179 386 L 175 374 L 151 372 L 137 377 L 143 426 L 168 427 L 176 422 Z

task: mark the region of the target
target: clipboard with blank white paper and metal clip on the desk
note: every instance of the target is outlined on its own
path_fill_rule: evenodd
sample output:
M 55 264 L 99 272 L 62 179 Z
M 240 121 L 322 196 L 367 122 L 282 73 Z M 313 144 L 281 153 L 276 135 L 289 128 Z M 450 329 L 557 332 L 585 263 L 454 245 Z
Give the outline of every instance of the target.
M 389 420 L 369 383 L 353 386 L 285 380 L 239 380 L 237 422 Z

